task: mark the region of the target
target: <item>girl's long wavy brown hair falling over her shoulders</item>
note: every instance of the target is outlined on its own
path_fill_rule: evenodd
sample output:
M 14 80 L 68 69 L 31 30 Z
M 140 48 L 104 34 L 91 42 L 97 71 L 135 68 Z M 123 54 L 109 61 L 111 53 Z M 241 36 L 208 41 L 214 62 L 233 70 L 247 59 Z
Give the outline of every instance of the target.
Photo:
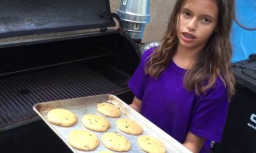
M 193 68 L 187 70 L 184 76 L 184 86 L 188 91 L 195 91 L 199 96 L 205 90 L 214 87 L 216 78 L 222 79 L 227 89 L 227 96 L 234 93 L 234 78 L 230 71 L 230 59 L 232 47 L 230 43 L 230 31 L 234 18 L 234 0 L 215 0 L 218 5 L 218 31 L 214 32 L 207 45 L 198 54 Z M 180 12 L 186 0 L 177 0 L 170 16 L 166 35 L 161 40 L 161 46 L 154 50 L 150 60 L 145 66 L 145 73 L 158 78 L 169 65 L 176 53 L 177 24 Z

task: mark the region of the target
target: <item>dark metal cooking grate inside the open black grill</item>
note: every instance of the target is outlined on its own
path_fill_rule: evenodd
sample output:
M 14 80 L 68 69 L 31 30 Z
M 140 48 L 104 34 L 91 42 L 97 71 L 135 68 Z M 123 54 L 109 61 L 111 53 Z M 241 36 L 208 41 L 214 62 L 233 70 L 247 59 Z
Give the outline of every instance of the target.
M 113 68 L 69 64 L 0 79 L 0 129 L 36 116 L 33 105 L 127 90 L 129 75 Z

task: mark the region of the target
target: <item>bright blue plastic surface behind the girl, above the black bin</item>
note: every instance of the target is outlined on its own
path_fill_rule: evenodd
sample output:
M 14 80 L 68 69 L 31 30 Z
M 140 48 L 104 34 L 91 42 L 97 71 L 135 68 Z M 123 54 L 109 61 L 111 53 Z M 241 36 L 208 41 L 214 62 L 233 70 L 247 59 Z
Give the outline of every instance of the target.
M 229 0 L 227 0 L 229 1 Z M 256 28 L 256 0 L 236 0 L 236 19 L 247 28 Z M 256 53 L 256 31 L 245 30 L 233 21 L 231 39 L 232 62 L 248 59 Z

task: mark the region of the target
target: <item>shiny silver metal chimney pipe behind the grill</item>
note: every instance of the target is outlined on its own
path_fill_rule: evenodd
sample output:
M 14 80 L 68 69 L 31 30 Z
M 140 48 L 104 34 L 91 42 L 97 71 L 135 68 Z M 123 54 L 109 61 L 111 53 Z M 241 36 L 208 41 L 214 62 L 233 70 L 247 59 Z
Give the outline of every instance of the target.
M 150 22 L 150 0 L 121 0 L 117 13 L 126 34 L 140 42 L 145 24 Z

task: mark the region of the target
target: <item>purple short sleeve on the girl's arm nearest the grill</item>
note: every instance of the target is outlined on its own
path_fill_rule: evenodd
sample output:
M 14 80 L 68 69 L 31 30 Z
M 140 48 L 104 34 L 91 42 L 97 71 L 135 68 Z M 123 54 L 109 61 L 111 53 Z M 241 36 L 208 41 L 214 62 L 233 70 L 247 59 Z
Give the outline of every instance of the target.
M 131 92 L 133 92 L 134 96 L 140 100 L 143 99 L 145 84 L 148 78 L 144 71 L 145 63 L 147 63 L 148 57 L 150 57 L 154 49 L 155 48 L 150 48 L 143 53 L 143 55 L 141 56 L 140 64 L 138 65 L 136 71 L 128 82 L 128 86 Z

